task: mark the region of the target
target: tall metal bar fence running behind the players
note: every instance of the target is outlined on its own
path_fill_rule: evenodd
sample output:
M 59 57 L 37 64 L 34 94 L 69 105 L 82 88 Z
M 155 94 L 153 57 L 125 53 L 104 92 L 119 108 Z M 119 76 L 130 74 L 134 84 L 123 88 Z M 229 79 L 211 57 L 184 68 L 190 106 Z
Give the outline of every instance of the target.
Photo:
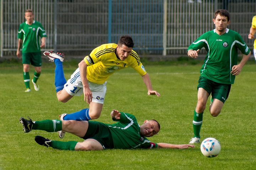
M 46 49 L 83 55 L 129 34 L 139 54 L 183 55 L 198 36 L 214 29 L 213 13 L 230 12 L 229 29 L 247 39 L 256 0 L 1 0 L 0 49 L 15 55 L 17 30 L 31 8 L 46 30 Z M 42 49 L 45 50 L 45 49 Z

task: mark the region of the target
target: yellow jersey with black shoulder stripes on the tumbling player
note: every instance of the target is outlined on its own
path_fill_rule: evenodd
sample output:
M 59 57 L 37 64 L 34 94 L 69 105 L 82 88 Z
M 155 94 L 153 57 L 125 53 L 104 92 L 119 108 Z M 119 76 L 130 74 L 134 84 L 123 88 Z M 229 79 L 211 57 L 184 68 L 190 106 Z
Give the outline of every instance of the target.
M 132 67 L 140 75 L 145 75 L 146 71 L 140 62 L 138 54 L 132 50 L 126 60 L 120 60 L 116 55 L 117 44 L 103 44 L 96 47 L 89 56 L 84 58 L 87 64 L 87 80 L 103 84 L 114 72 Z

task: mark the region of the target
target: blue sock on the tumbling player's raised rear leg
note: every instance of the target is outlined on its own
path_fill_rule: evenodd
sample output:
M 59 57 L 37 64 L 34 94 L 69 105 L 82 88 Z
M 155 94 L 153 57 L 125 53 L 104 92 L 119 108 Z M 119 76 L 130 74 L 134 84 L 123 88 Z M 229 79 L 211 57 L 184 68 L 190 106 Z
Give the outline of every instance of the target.
M 55 81 L 54 85 L 56 87 L 56 92 L 64 89 L 64 84 L 66 83 L 66 79 L 64 77 L 62 62 L 56 58 L 54 59 L 55 67 Z

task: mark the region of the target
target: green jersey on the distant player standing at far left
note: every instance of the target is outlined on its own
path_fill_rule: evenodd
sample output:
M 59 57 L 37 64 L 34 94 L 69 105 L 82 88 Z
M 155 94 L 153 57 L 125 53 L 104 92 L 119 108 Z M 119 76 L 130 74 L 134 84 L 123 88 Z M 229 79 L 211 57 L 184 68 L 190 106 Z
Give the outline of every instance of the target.
M 34 21 L 31 25 L 27 21 L 20 24 L 18 39 L 22 39 L 22 52 L 40 52 L 40 37 L 46 37 L 45 30 L 40 22 Z

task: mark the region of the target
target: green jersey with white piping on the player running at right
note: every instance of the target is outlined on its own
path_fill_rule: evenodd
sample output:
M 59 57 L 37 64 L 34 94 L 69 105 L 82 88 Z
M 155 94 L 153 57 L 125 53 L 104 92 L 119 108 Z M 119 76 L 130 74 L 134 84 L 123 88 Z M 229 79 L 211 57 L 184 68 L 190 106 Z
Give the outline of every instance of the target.
M 242 37 L 228 28 L 222 35 L 218 35 L 214 29 L 201 35 L 188 50 L 202 47 L 206 49 L 207 55 L 200 70 L 201 76 L 216 83 L 234 84 L 235 75 L 230 72 L 238 63 L 238 49 L 244 55 L 250 52 Z

